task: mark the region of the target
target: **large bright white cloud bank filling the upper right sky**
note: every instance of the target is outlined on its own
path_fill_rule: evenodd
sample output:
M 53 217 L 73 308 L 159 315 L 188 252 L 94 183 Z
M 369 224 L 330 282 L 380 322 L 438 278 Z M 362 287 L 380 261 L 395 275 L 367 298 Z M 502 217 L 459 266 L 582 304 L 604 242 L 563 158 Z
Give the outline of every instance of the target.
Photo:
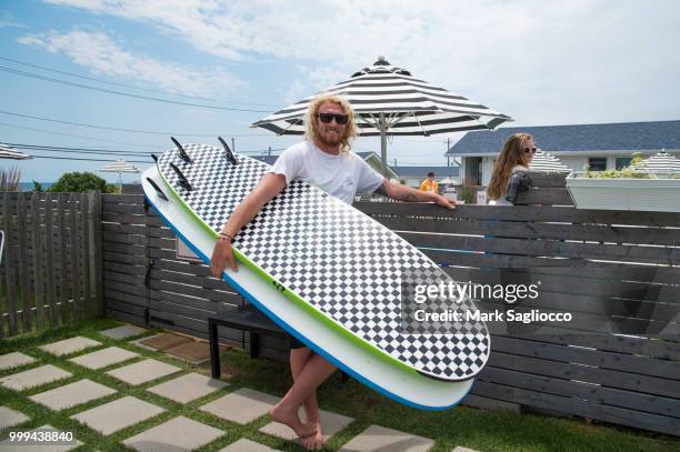
M 303 96 L 384 54 L 526 124 L 680 114 L 672 0 L 46 1 L 148 23 L 223 59 L 312 68 L 290 91 Z

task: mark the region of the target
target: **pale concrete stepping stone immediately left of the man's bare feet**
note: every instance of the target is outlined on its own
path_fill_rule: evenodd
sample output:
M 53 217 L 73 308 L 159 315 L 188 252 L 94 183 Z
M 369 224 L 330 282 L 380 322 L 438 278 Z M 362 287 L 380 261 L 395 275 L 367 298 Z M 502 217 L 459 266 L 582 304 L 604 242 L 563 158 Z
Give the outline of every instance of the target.
M 247 424 L 269 413 L 269 410 L 279 403 L 279 398 L 241 388 L 230 394 L 201 406 L 201 411 L 214 414 L 227 421 Z

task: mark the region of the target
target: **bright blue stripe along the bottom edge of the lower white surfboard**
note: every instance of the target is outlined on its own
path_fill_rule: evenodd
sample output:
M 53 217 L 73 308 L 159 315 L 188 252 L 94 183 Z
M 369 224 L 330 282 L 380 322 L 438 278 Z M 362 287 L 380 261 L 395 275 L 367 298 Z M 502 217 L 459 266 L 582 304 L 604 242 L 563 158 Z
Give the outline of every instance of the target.
M 193 245 L 193 243 L 191 243 L 191 241 L 187 240 L 187 238 L 174 227 L 174 224 L 172 224 L 172 222 L 169 221 L 160 212 L 160 210 L 156 208 L 156 204 L 153 203 L 153 201 L 151 201 L 151 199 L 149 199 L 149 197 L 147 197 L 147 200 L 149 201 L 149 203 L 151 204 L 153 210 L 156 210 L 156 212 L 160 215 L 160 218 L 163 219 L 166 224 L 172 230 L 172 232 L 174 232 L 191 249 L 191 251 L 193 251 L 197 255 L 199 255 L 203 260 L 204 263 L 209 263 L 210 259 L 208 259 L 208 257 L 206 254 L 203 254 L 203 252 L 201 250 L 196 248 Z M 264 314 L 267 314 L 267 317 L 269 319 L 271 319 L 279 327 L 281 327 L 283 330 L 286 330 L 286 332 L 288 332 L 289 334 L 292 334 L 293 337 L 296 337 L 298 340 L 303 342 L 307 346 L 312 349 L 316 353 L 318 353 L 321 356 L 323 356 L 323 359 L 326 359 L 327 361 L 331 362 L 338 369 L 340 369 L 343 372 L 350 374 L 353 379 L 356 379 L 356 380 L 360 381 L 361 383 L 366 384 L 367 386 L 378 391 L 379 393 L 381 393 L 383 395 L 387 395 L 388 398 L 390 398 L 392 400 L 396 400 L 396 401 L 398 401 L 400 403 L 403 403 L 404 405 L 408 405 L 408 406 L 411 406 L 411 408 L 416 408 L 416 409 L 419 409 L 419 410 L 443 411 L 443 410 L 448 410 L 450 408 L 453 408 L 453 406 L 458 405 L 460 403 L 460 401 L 463 400 L 466 398 L 466 395 L 468 395 L 468 393 L 470 392 L 470 390 L 468 390 L 456 403 L 452 403 L 452 404 L 446 405 L 446 406 L 428 406 L 428 405 L 422 405 L 422 404 L 419 404 L 419 403 L 411 402 L 410 400 L 406 400 L 406 399 L 403 399 L 403 398 L 401 398 L 401 396 L 399 396 L 399 395 L 397 395 L 397 394 L 386 390 L 384 388 L 379 386 L 378 384 L 373 383 L 372 381 L 366 379 L 364 376 L 360 375 L 359 373 L 357 373 L 356 371 L 353 371 L 352 369 L 350 369 L 349 366 L 347 366 L 342 362 L 338 361 L 337 359 L 334 359 L 333 356 L 328 354 L 323 349 L 321 349 L 316 343 L 313 343 L 312 341 L 307 339 L 304 335 L 299 333 L 296 329 L 290 327 L 288 323 L 286 323 L 283 320 L 281 320 L 278 315 L 276 315 L 273 312 L 271 312 L 269 309 L 267 309 L 264 305 L 262 305 L 259 301 L 257 301 L 256 298 L 250 294 L 250 292 L 248 292 L 243 287 L 241 287 L 239 283 L 237 283 L 234 280 L 229 278 L 227 275 L 227 273 L 222 272 L 222 279 L 226 282 L 228 282 L 229 284 L 231 284 L 232 287 L 234 287 L 239 291 L 239 293 L 241 293 L 241 295 L 246 297 L 246 299 L 248 299 L 248 301 L 250 301 L 259 310 L 261 310 Z M 470 386 L 470 389 L 471 388 L 472 386 Z

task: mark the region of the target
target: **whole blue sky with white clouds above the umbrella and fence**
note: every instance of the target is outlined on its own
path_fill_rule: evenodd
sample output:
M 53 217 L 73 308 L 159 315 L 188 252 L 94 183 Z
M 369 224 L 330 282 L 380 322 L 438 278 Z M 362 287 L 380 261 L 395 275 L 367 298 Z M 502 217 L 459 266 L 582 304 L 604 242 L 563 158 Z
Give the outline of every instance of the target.
M 170 135 L 278 152 L 300 138 L 252 122 L 378 56 L 508 127 L 678 120 L 678 42 L 674 0 L 0 0 L 0 142 L 71 149 L 0 168 L 26 182 L 119 158 L 143 170 Z M 388 158 L 446 165 L 460 138 L 393 138 Z

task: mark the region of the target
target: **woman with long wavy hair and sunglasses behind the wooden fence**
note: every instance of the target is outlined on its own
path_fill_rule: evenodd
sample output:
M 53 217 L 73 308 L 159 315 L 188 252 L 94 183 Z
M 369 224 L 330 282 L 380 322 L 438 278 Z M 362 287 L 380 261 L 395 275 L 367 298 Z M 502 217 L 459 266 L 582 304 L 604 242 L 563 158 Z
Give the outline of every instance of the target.
M 493 164 L 491 181 L 487 189 L 490 204 L 512 205 L 506 201 L 506 190 L 510 175 L 517 171 L 529 171 L 529 164 L 534 153 L 533 137 L 529 133 L 514 133 L 508 138 Z

